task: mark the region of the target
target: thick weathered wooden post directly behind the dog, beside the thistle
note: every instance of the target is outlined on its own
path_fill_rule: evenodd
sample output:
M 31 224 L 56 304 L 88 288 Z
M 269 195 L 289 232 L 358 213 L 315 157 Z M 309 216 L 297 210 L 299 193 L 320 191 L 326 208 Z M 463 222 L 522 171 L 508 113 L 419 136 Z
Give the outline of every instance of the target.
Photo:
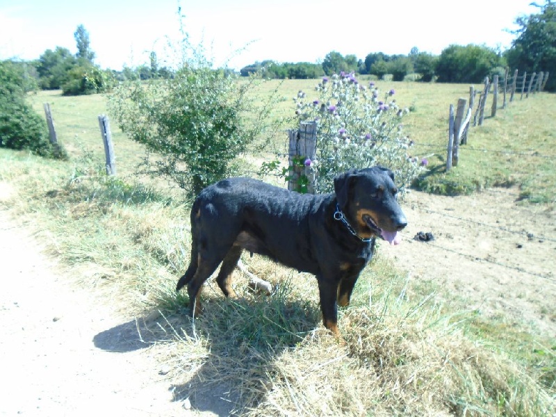
M 306 192 L 314 193 L 315 172 L 311 167 L 311 162 L 316 156 L 317 142 L 317 123 L 300 122 L 300 129 L 288 131 L 289 149 L 288 163 L 290 175 L 288 180 L 288 190 L 302 190 L 300 179 L 306 177 Z M 309 159 L 309 163 L 305 161 Z M 303 160 L 303 161 L 302 161 Z

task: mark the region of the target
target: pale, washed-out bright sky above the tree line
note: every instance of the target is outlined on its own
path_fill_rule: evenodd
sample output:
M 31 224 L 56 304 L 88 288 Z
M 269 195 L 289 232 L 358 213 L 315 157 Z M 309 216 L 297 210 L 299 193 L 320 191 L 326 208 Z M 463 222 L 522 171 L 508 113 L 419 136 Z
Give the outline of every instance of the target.
M 539 11 L 530 0 L 0 0 L 0 59 L 35 59 L 57 46 L 75 53 L 83 24 L 103 68 L 147 63 L 149 51 L 171 64 L 178 6 L 190 39 L 215 65 L 236 69 L 265 59 L 316 63 L 330 51 L 364 59 L 412 47 L 440 54 L 450 44 L 507 49 L 516 17 Z

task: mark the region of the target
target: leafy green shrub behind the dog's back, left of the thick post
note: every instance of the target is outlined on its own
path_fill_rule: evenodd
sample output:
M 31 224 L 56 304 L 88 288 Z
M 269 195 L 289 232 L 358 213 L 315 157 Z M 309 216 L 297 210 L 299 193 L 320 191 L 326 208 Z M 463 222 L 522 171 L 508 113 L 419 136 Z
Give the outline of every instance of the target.
M 254 108 L 247 97 L 254 77 L 238 82 L 197 60 L 185 63 L 173 79 L 123 83 L 109 101 L 120 129 L 158 154 L 147 155 L 147 172 L 171 179 L 190 195 L 234 174 L 235 158 L 263 129 L 269 108 Z

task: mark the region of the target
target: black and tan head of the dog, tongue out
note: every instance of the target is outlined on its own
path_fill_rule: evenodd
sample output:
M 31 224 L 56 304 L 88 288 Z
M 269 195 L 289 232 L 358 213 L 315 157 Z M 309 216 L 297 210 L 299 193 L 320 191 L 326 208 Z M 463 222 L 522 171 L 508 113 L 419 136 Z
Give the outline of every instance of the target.
M 334 179 L 334 190 L 338 206 L 359 236 L 400 243 L 398 231 L 407 226 L 407 218 L 398 204 L 391 170 L 378 166 L 349 170 Z

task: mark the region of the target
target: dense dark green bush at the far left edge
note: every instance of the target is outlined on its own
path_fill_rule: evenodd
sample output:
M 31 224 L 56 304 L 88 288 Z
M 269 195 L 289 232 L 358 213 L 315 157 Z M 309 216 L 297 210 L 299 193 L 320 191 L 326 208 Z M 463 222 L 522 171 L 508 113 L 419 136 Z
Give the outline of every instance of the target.
M 67 158 L 63 148 L 51 145 L 46 123 L 26 104 L 24 85 L 15 63 L 0 62 L 0 147 Z

